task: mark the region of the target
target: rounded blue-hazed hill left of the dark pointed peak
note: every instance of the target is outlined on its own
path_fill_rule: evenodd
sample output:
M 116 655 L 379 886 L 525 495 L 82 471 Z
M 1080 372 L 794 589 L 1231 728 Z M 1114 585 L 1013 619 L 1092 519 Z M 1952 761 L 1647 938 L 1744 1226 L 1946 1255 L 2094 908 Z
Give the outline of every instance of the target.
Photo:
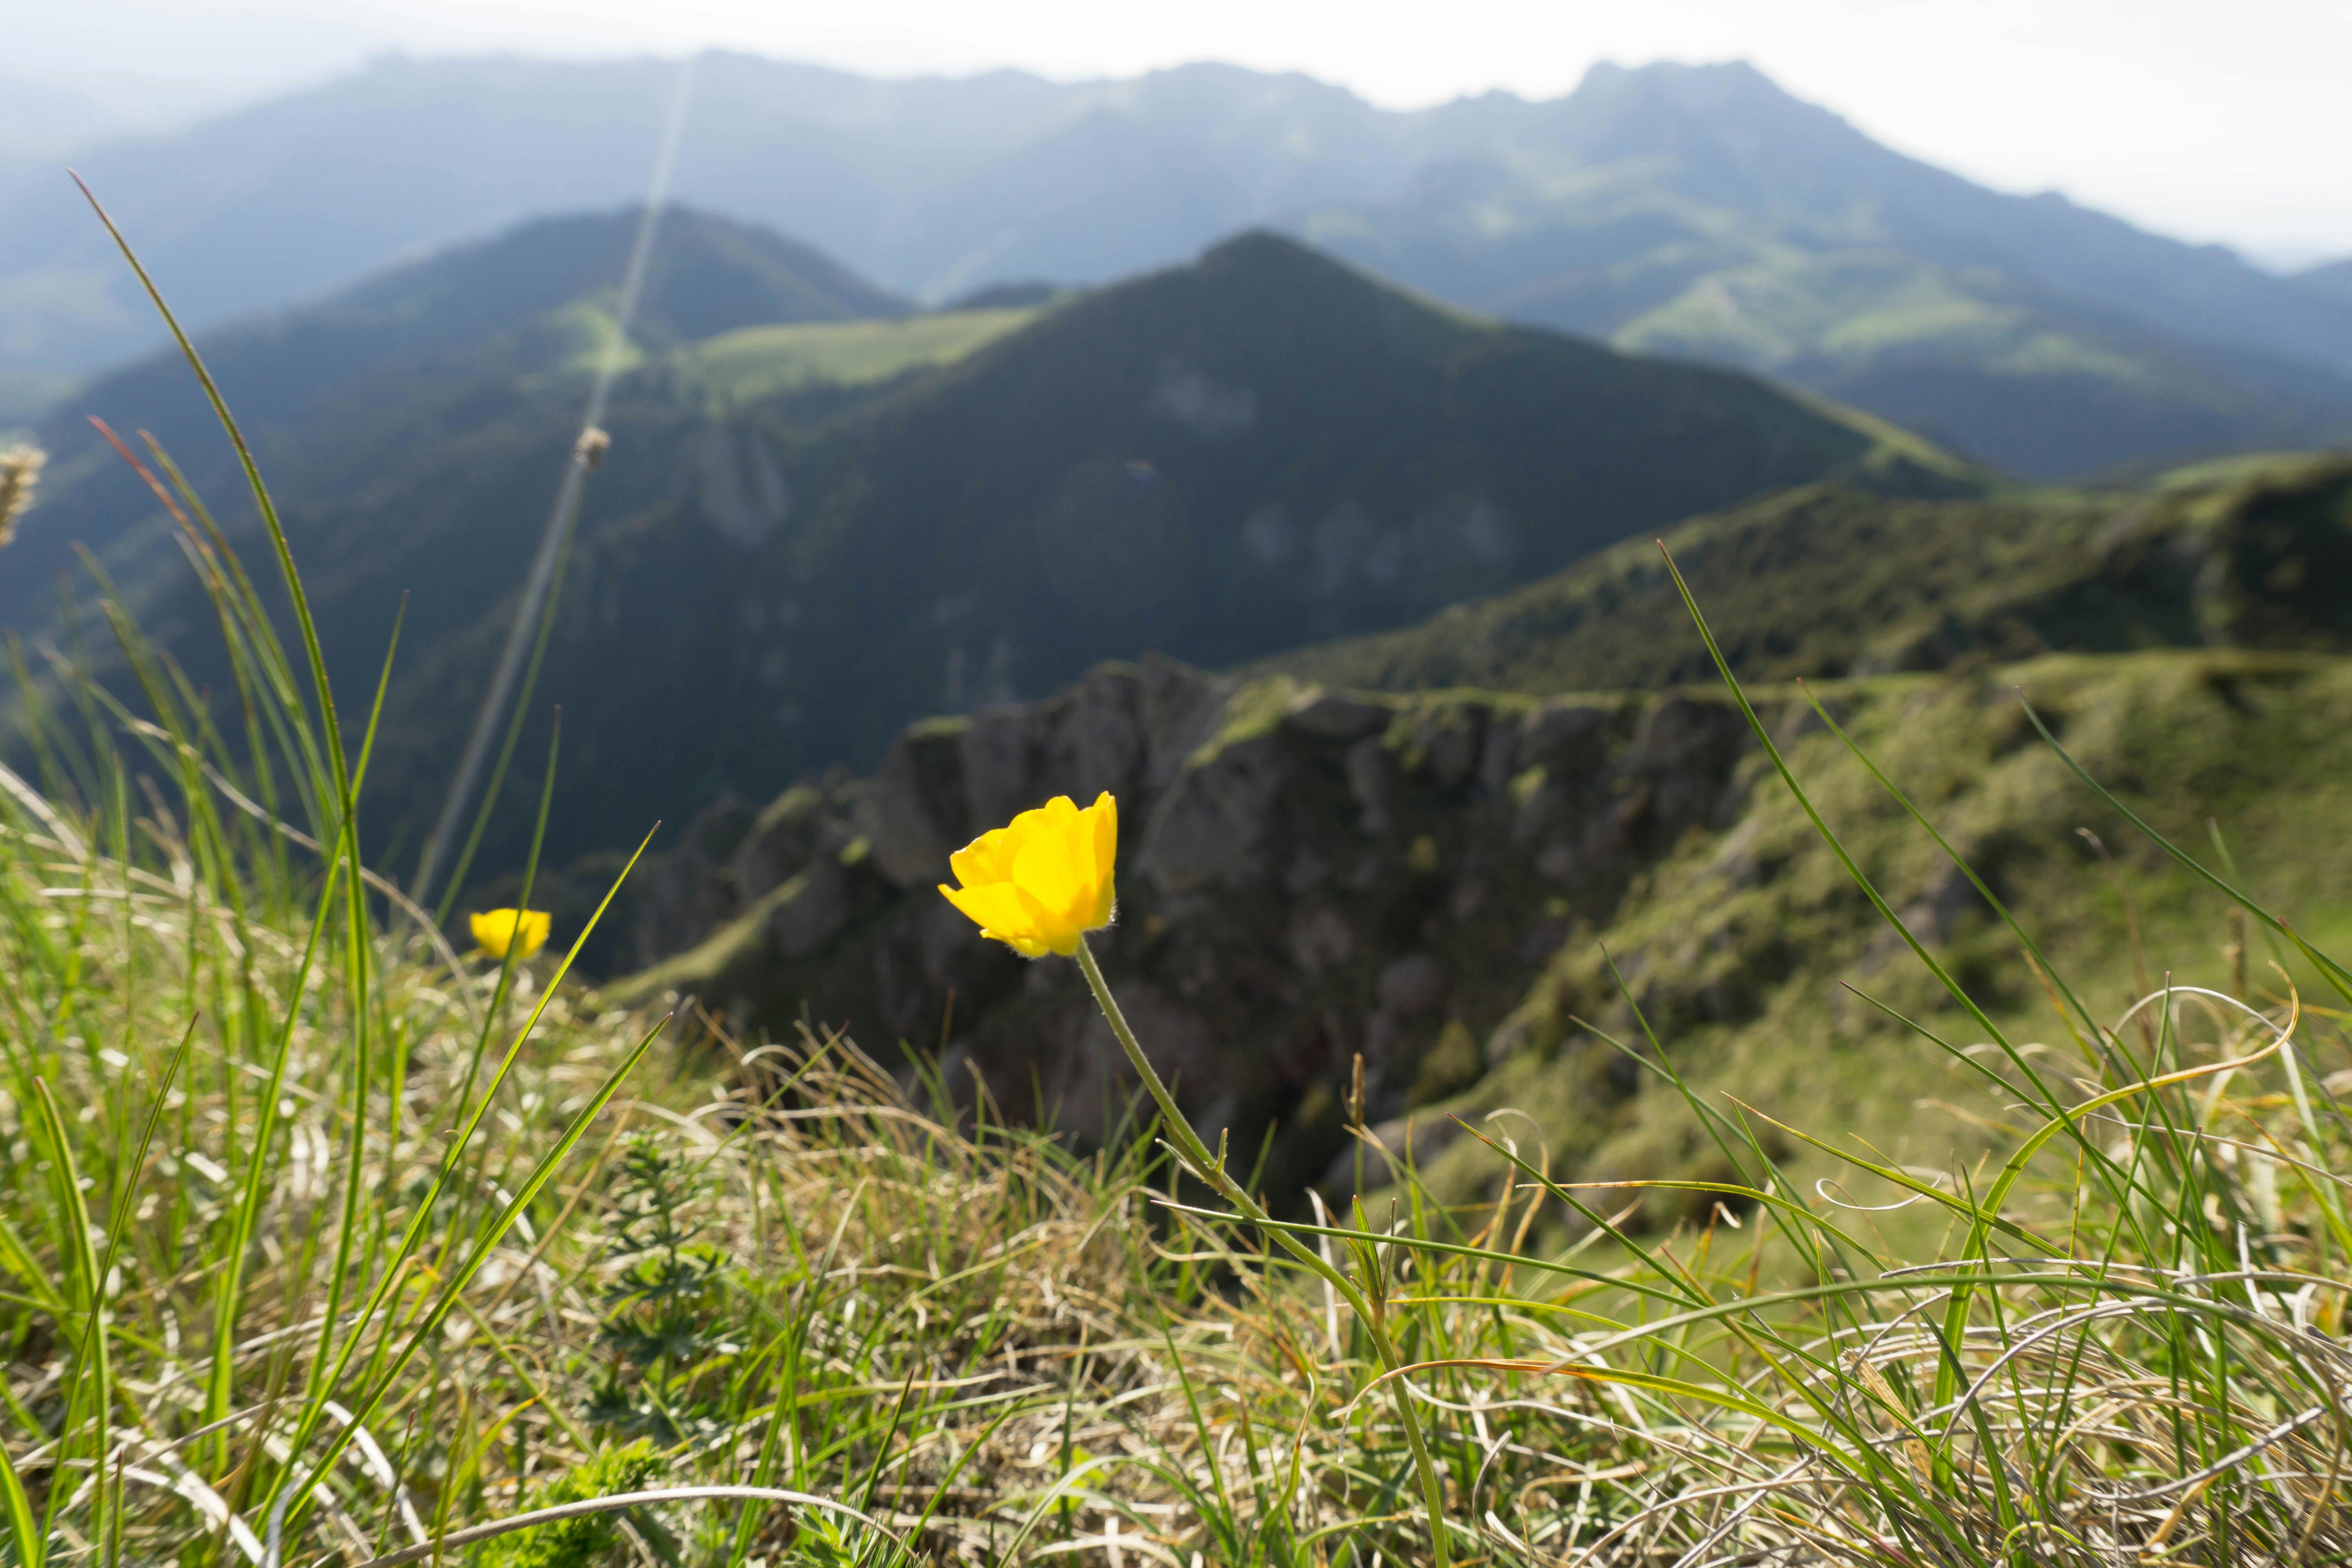
M 586 374 L 609 336 L 635 212 L 527 223 L 499 240 L 395 268 L 327 301 L 207 334 L 205 362 L 270 465 L 299 538 L 334 552 L 334 517 L 388 517 L 374 559 L 463 531 L 468 574 L 499 592 L 524 559 L 546 491 L 579 421 Z M 174 280 L 160 277 L 165 296 Z M 828 256 L 694 209 L 661 219 L 635 320 L 635 357 L 736 327 L 894 317 L 906 301 Z M 101 376 L 35 428 L 49 451 L 42 522 L 0 574 L 0 625 L 45 628 L 75 548 L 106 562 L 132 602 L 181 583 L 183 564 L 146 484 L 92 433 L 153 433 L 223 522 L 249 520 L 242 477 L 212 409 L 176 353 Z M 454 562 L 452 562 L 454 567 Z M 428 578 L 407 576 L 402 588 Z M 437 614 L 430 602 L 419 609 Z M 468 614 L 480 614 L 475 607 Z M 386 623 L 367 618 L 358 644 Z M 374 656 L 353 649 L 355 658 Z

